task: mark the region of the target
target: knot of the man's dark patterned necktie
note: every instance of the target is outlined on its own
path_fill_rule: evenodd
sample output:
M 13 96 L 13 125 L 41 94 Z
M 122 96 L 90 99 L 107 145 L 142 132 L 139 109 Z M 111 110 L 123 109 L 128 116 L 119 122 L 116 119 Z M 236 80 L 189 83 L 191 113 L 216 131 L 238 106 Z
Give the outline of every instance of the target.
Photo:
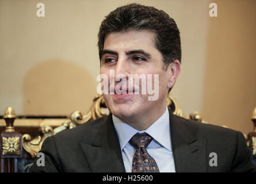
M 148 135 L 147 133 L 136 133 L 131 140 L 129 140 L 129 143 L 137 148 L 147 148 L 148 144 L 152 141 L 152 137 Z

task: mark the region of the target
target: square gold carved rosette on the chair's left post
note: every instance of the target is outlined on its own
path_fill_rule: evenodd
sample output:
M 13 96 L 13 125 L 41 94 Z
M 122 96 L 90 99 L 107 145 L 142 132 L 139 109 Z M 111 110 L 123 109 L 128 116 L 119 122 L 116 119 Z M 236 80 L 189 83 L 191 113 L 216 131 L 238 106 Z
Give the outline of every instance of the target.
M 2 155 L 20 155 L 20 137 L 2 137 Z

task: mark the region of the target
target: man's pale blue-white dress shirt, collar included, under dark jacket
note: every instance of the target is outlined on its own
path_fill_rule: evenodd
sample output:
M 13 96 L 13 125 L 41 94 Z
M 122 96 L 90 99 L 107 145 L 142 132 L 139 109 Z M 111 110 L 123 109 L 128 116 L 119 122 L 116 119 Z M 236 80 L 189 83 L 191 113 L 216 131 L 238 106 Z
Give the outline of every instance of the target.
M 161 173 L 175 173 L 173 150 L 171 149 L 170 119 L 167 106 L 165 113 L 144 131 L 137 131 L 113 114 L 112 118 L 114 128 L 119 137 L 124 167 L 127 173 L 131 173 L 132 171 L 132 159 L 135 153 L 135 148 L 129 144 L 129 140 L 138 132 L 146 132 L 153 138 L 146 149 L 148 154 L 155 159 L 159 171 Z

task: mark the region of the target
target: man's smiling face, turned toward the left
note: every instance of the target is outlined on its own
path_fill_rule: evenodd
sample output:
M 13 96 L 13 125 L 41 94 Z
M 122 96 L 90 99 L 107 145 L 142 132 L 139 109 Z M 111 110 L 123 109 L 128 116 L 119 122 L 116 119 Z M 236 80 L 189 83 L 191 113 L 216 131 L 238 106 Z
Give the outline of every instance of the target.
M 152 110 L 157 112 L 166 108 L 167 92 L 174 83 L 170 83 L 171 67 L 164 70 L 162 55 L 156 49 L 154 39 L 155 33 L 150 30 L 114 32 L 105 38 L 100 74 L 108 76 L 109 85 L 112 80 L 110 70 L 114 71 L 114 76 L 120 74 L 125 76 L 122 80 L 127 81 L 127 93 L 129 75 L 152 74 L 152 89 L 155 88 L 154 75 L 159 76 L 157 83 L 159 90 L 154 91 L 158 93 L 157 100 L 149 101 L 148 96 L 152 95 L 142 94 L 142 81 L 139 83 L 133 81 L 133 94 L 104 94 L 106 106 L 121 120 L 134 116 L 147 116 L 148 113 L 152 113 Z M 119 81 L 116 81 L 114 86 L 117 83 Z M 135 94 L 135 91 L 139 94 Z

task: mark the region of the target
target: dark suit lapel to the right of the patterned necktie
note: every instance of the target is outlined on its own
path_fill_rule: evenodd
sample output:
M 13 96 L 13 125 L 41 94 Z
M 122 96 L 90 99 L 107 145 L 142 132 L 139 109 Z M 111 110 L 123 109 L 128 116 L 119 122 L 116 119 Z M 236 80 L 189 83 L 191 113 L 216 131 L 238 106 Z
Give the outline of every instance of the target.
M 176 172 L 206 172 L 206 139 L 197 139 L 170 110 L 169 114 Z

